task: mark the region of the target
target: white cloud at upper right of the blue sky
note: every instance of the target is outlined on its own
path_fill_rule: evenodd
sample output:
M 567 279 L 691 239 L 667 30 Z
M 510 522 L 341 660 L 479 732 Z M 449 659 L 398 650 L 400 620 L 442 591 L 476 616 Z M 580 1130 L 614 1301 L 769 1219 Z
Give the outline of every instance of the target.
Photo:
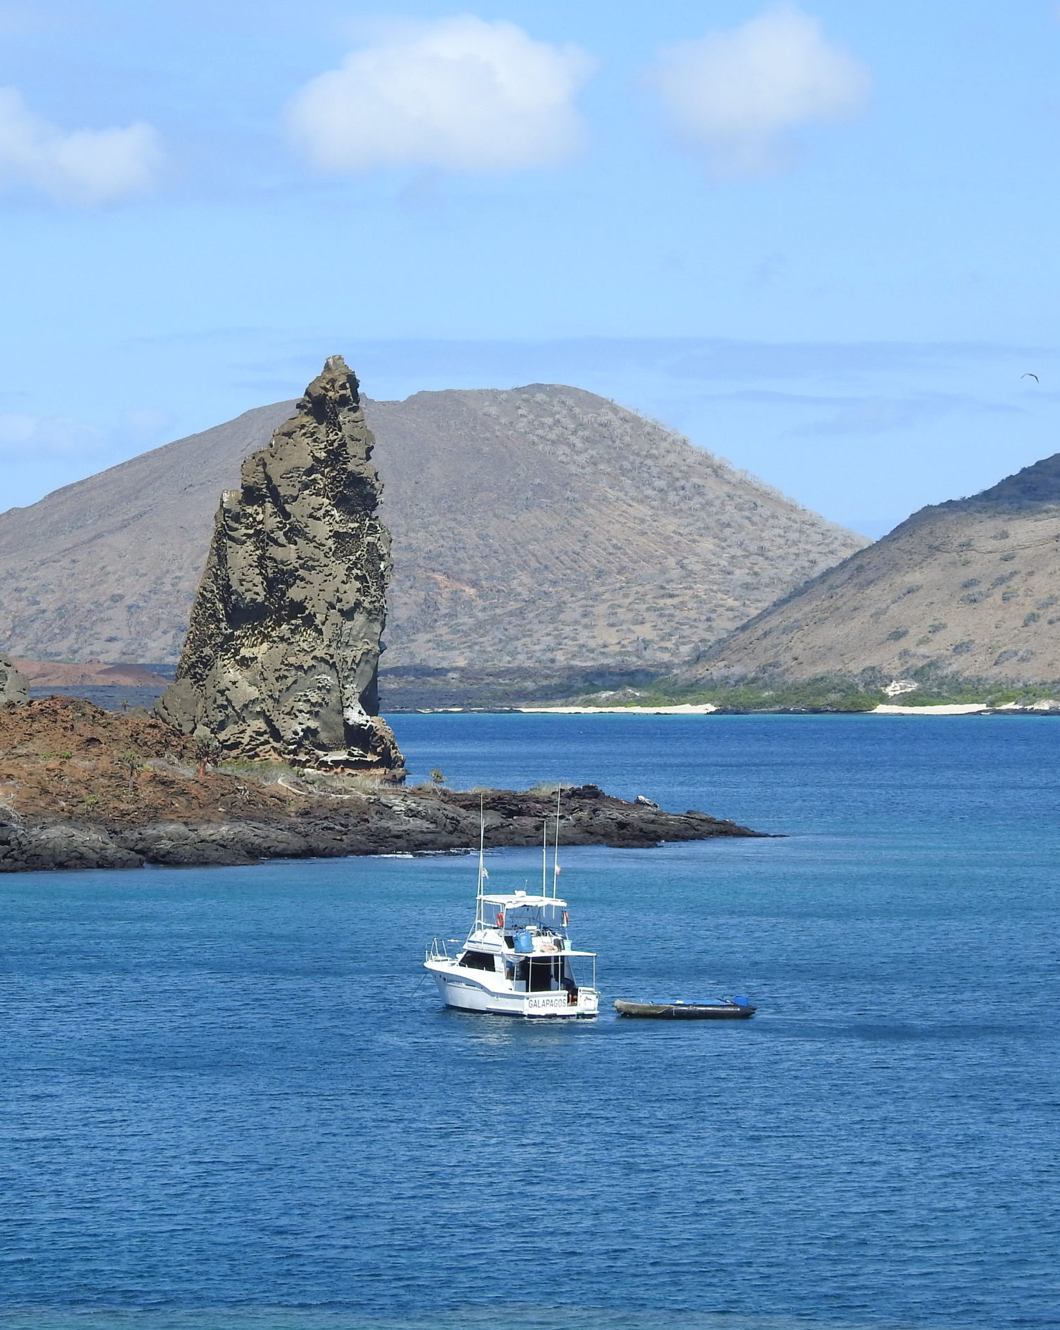
M 652 81 L 681 140 L 721 176 L 775 169 L 790 130 L 850 118 L 868 89 L 861 61 L 791 4 L 665 47 Z

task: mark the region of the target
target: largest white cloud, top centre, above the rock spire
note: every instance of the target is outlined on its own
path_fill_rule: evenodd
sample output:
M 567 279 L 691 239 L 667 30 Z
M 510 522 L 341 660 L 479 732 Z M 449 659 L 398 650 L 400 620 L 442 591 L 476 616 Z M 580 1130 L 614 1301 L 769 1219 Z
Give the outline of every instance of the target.
M 593 69 L 576 47 L 469 15 L 392 28 L 313 78 L 289 106 L 295 142 L 327 172 L 547 166 L 575 153 L 575 94 Z

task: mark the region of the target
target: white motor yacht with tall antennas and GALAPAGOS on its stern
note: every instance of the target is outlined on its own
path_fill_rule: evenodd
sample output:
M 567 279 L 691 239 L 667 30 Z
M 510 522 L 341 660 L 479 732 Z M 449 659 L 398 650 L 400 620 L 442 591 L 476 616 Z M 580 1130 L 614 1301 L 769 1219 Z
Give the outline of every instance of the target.
M 541 894 L 527 891 L 488 894 L 485 823 L 479 811 L 479 888 L 475 923 L 463 947 L 435 938 L 424 967 L 431 971 L 442 1000 L 464 1011 L 505 1016 L 596 1016 L 596 952 L 575 951 L 568 935 L 567 902 L 556 894 L 560 875 L 560 802 L 556 797 L 556 837 L 552 845 L 552 883 L 548 872 L 548 819 L 541 835 Z M 454 954 L 450 954 L 454 947 Z

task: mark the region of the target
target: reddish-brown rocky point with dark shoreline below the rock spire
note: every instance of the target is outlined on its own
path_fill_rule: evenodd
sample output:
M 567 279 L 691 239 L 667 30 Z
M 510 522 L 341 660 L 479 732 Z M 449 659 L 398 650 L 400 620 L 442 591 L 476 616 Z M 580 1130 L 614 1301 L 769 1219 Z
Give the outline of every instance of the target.
M 257 765 L 197 766 L 190 738 L 81 698 L 0 706 L 0 872 L 221 866 L 535 846 L 555 787 L 448 790 Z M 561 845 L 648 847 L 761 833 L 565 787 Z

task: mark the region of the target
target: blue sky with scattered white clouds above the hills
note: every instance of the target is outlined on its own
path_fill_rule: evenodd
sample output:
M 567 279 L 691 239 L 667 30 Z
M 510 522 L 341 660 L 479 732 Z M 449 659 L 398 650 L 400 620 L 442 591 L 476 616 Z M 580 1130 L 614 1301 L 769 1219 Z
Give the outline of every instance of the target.
M 868 535 L 1060 448 L 1049 0 L 0 0 L 0 508 L 332 351 Z

